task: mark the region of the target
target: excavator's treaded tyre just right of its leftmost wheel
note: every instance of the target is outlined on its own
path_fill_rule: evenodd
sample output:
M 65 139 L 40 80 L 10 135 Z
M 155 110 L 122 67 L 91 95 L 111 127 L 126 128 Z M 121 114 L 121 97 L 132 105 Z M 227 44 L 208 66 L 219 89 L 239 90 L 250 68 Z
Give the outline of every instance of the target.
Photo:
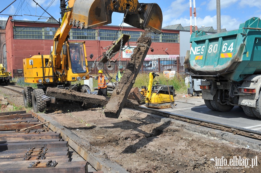
M 34 112 L 44 112 L 47 105 L 46 101 L 42 101 L 41 96 L 44 95 L 43 89 L 35 89 L 32 93 L 32 107 Z

